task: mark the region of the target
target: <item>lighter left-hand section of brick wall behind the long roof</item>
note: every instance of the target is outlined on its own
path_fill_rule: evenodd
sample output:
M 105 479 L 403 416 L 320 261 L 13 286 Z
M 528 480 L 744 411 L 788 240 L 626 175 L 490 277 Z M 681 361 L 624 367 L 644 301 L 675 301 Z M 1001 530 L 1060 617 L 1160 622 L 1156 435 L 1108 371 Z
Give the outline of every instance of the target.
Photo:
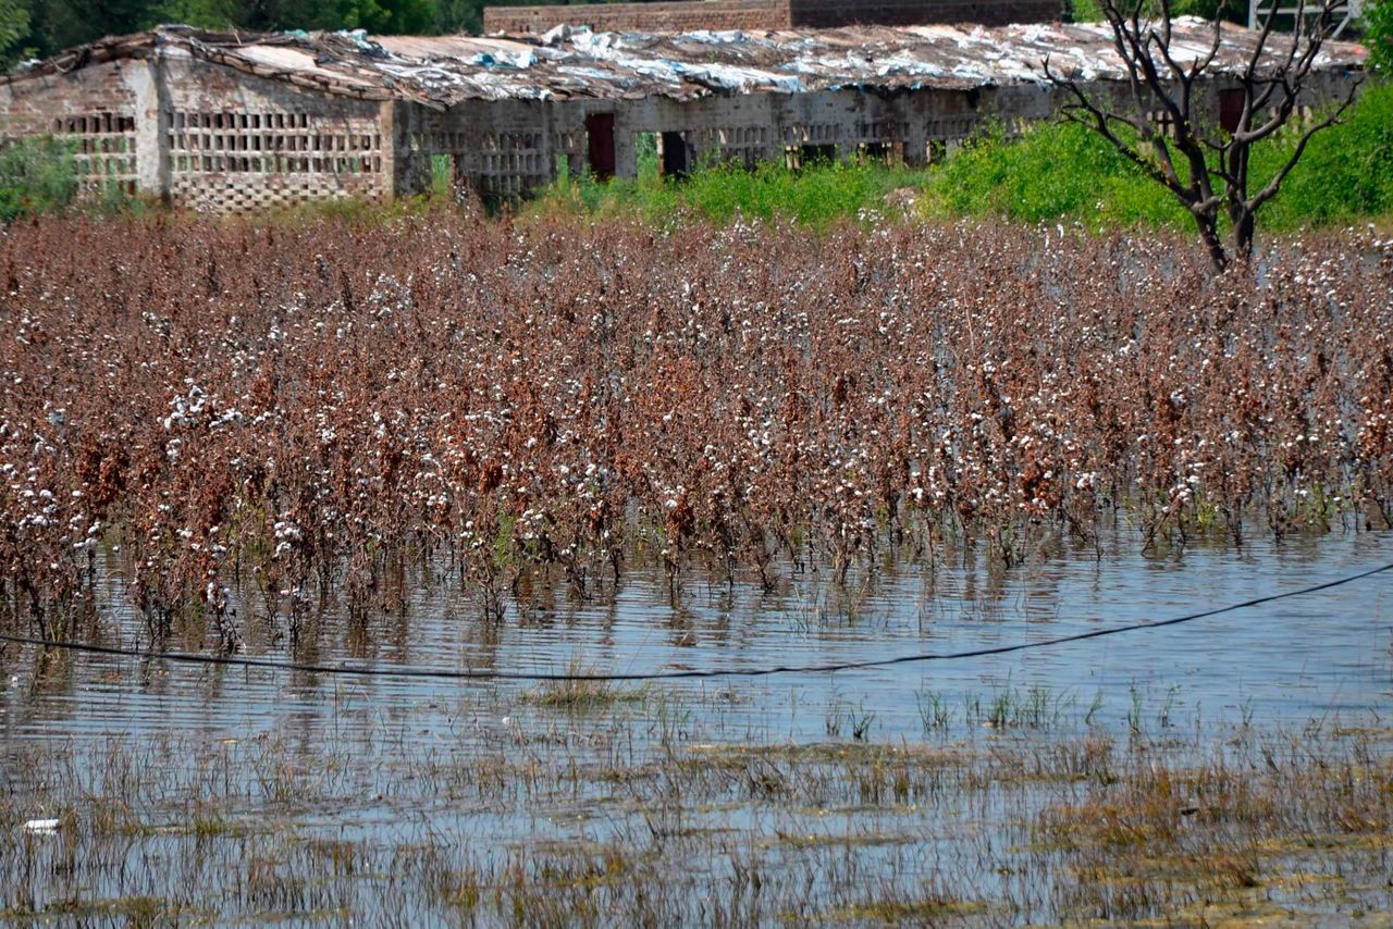
M 483 31 L 540 33 L 560 25 L 610 32 L 685 32 L 690 29 L 787 29 L 788 0 L 694 0 L 691 3 L 612 3 L 546 7 L 485 7 Z

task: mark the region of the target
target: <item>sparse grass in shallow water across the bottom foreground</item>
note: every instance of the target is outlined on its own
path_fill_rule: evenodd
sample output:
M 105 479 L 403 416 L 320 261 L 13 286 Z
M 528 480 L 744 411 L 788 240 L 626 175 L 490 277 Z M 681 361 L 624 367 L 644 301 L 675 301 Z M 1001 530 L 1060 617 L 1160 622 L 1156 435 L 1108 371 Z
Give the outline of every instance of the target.
M 384 755 L 364 754 L 397 738 L 373 726 L 231 749 L 13 744 L 0 914 L 999 925 L 1357 919 L 1393 904 L 1389 734 L 1365 727 L 710 745 L 653 740 L 652 721 L 529 723 Z M 338 773 L 262 795 L 267 769 Z M 64 811 L 52 836 L 20 829 L 40 806 Z M 111 808 L 152 827 L 99 827 Z M 216 827 L 153 827 L 187 811 Z

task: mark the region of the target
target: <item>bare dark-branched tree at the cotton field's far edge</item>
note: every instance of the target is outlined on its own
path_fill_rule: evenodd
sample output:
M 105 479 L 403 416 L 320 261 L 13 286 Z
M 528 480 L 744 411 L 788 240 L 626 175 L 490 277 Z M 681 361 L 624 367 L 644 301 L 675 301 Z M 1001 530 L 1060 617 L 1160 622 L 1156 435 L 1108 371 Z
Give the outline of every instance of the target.
M 1119 6 L 1119 3 L 1123 6 Z M 1103 95 L 1089 93 L 1045 61 L 1046 77 L 1068 91 L 1073 100 L 1064 117 L 1089 127 L 1151 178 L 1174 194 L 1199 228 L 1215 267 L 1223 270 L 1234 258 L 1252 255 L 1258 209 L 1277 195 L 1282 182 L 1301 160 L 1307 143 L 1321 130 L 1339 123 L 1354 102 L 1358 82 L 1322 118 L 1300 125 L 1290 156 L 1256 191 L 1250 191 L 1252 146 L 1275 135 L 1298 113 L 1321 47 L 1337 21 L 1343 0 L 1322 0 L 1307 7 L 1298 0 L 1293 32 L 1275 31 L 1276 7 L 1255 35 L 1255 45 L 1234 67 L 1216 65 L 1223 25 L 1213 24 L 1208 50 L 1197 57 L 1177 54 L 1173 46 L 1170 0 L 1103 0 L 1103 15 L 1127 75 L 1130 95 L 1120 107 Z M 1209 113 L 1197 110 L 1197 91 L 1223 78 L 1230 103 L 1227 128 Z M 1130 97 L 1130 99 L 1127 99 Z M 1231 248 L 1220 234 L 1220 216 L 1231 227 Z

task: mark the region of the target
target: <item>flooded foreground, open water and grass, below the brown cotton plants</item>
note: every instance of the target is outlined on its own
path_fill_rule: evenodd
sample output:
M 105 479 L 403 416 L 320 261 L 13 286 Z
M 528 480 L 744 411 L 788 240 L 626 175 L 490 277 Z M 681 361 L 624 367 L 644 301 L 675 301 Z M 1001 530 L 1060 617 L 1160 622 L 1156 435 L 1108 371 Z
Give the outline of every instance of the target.
M 1387 533 L 772 591 L 635 572 L 481 620 L 403 609 L 245 655 L 373 670 L 761 669 L 1169 618 L 1393 561 Z M 1134 547 L 1134 546 L 1133 546 Z M 93 641 L 139 645 L 107 604 Z M 178 643 L 170 643 L 177 646 Z M 11 919 L 1015 923 L 1393 907 L 1393 572 L 960 662 L 652 682 L 429 681 L 4 652 Z M 50 827 L 31 820 L 53 819 Z M 25 823 L 31 823 L 29 827 Z M 1208 903 L 1206 903 L 1208 901 Z

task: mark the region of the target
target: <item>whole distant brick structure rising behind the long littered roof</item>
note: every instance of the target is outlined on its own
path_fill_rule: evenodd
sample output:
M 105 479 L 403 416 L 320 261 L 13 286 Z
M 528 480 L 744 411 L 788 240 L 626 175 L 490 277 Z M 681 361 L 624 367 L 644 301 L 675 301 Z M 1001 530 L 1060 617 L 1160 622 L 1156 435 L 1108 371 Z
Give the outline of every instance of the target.
M 560 24 L 609 32 L 692 29 L 834 29 L 931 22 L 1050 22 L 1060 0 L 687 0 L 538 7 L 485 7 L 483 31 L 542 33 Z

